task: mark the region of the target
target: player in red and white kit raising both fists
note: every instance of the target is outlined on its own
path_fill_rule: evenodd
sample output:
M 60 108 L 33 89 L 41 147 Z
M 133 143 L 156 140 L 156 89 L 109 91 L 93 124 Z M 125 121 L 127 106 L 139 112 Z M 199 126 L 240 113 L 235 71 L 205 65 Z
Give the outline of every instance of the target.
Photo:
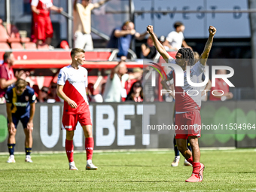
M 147 30 L 151 35 L 154 45 L 158 52 L 163 56 L 166 62 L 177 64 L 183 69 L 184 72 L 184 86 L 178 87 L 175 85 L 175 71 L 173 72 L 173 79 L 175 85 L 175 120 L 178 129 L 175 130 L 176 142 L 178 145 L 178 151 L 185 159 L 192 164 L 193 171 L 187 182 L 200 182 L 203 181 L 204 165 L 200 163 L 200 148 L 198 145 L 198 138 L 200 137 L 200 129 L 197 125 L 201 125 L 200 107 L 201 107 L 201 87 L 192 87 L 187 83 L 187 67 L 190 68 L 190 81 L 193 83 L 200 82 L 200 74 L 206 66 L 206 60 L 208 59 L 209 52 L 212 47 L 213 37 L 216 33 L 216 29 L 213 26 L 209 26 L 209 38 L 206 42 L 206 46 L 203 50 L 200 60 L 194 64 L 194 53 L 189 48 L 181 48 L 176 53 L 176 59 L 169 56 L 163 45 L 158 41 L 157 36 L 154 34 L 153 26 L 148 26 Z M 194 64 L 194 66 L 192 66 Z M 192 67 L 191 67 L 192 66 Z M 178 73 L 177 73 L 178 74 Z M 190 95 L 187 91 L 190 91 Z M 197 94 L 198 93 L 198 94 Z M 193 126 L 192 130 L 183 130 L 182 126 Z M 192 152 L 187 148 L 187 138 L 190 140 Z

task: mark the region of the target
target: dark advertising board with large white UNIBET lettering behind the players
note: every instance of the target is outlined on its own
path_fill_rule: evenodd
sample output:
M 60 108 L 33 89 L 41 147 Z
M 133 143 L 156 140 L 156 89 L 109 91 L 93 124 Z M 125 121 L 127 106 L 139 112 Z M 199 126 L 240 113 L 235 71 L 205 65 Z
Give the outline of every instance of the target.
M 173 102 L 91 104 L 95 149 L 172 148 L 169 138 L 172 138 L 175 130 L 169 127 L 173 124 L 171 118 L 173 105 Z M 206 129 L 202 130 L 200 146 L 255 147 L 254 105 L 255 102 L 207 102 L 203 104 L 202 124 Z M 0 105 L 0 114 L 0 152 L 8 152 L 5 105 Z M 36 105 L 33 151 L 64 151 L 66 133 L 65 130 L 61 130 L 61 118 L 61 103 Z M 219 123 L 221 125 L 218 125 Z M 152 129 L 148 130 L 145 126 L 154 124 L 162 125 L 161 129 L 160 126 L 157 129 L 151 126 Z M 239 129 L 239 124 L 242 129 Z M 215 130 L 215 125 L 219 126 L 219 130 Z M 245 130 L 243 130 L 244 125 Z M 24 151 L 22 129 L 19 123 L 15 150 L 21 152 Z M 80 124 L 75 131 L 74 145 L 75 150 L 84 151 L 84 133 Z

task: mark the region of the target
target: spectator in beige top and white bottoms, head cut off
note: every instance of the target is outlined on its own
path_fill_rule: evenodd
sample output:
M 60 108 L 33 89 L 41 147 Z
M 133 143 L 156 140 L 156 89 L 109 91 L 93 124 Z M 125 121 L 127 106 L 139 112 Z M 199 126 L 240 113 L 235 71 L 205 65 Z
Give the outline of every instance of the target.
M 99 6 L 109 2 L 110 0 L 103 0 L 97 3 L 91 3 L 90 0 L 81 0 L 78 3 L 77 0 L 73 4 L 74 15 L 74 47 L 84 50 L 93 50 L 93 39 L 90 35 L 90 15 L 91 11 Z

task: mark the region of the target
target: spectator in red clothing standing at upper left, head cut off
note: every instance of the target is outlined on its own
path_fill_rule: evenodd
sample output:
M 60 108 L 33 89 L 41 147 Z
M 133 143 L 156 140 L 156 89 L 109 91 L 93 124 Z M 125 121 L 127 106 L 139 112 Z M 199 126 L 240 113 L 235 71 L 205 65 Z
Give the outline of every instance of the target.
M 53 5 L 52 0 L 32 0 L 31 10 L 33 14 L 36 44 L 50 45 L 53 38 L 53 25 L 50 20 L 50 10 L 62 12 L 62 8 L 57 8 Z M 50 46 L 49 46 L 50 47 Z M 53 48 L 53 47 L 52 47 Z

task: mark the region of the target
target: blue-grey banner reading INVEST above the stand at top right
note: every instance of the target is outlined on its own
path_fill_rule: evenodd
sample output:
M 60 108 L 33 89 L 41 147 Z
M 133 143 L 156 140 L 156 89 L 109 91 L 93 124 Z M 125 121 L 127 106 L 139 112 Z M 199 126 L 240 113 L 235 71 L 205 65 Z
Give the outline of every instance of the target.
M 247 10 L 247 0 L 136 0 L 136 11 L 221 11 Z M 215 38 L 251 37 L 249 17 L 246 13 L 232 14 L 141 14 L 136 15 L 136 30 L 143 32 L 147 25 L 153 25 L 158 36 L 173 31 L 173 23 L 181 21 L 186 26 L 185 38 L 207 38 L 209 26 L 218 32 Z

